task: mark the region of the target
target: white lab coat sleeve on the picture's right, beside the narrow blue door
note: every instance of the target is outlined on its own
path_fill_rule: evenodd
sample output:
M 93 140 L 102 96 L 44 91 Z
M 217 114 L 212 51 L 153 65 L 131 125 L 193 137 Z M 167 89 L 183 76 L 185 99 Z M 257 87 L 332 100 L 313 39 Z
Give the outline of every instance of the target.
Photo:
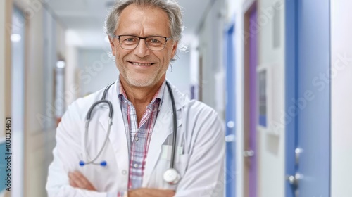
M 194 114 L 192 114 L 194 115 Z M 194 127 L 193 151 L 184 177 L 177 186 L 175 197 L 223 196 L 225 132 L 215 111 L 199 113 Z

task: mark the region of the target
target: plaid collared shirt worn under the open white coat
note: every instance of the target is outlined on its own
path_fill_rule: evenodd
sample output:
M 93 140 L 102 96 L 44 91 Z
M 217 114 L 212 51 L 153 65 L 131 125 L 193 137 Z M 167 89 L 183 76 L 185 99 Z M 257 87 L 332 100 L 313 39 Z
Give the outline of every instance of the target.
M 146 106 L 146 111 L 140 122 L 137 121 L 137 113 L 133 104 L 128 101 L 125 91 L 118 80 L 118 98 L 121 103 L 122 117 L 125 125 L 125 132 L 130 136 L 128 146 L 130 150 L 130 175 L 128 179 L 128 189 L 142 187 L 144 167 L 148 155 L 151 134 L 158 115 L 159 106 L 163 100 L 165 81 L 160 89 L 153 96 L 151 103 Z M 139 127 L 138 127 L 139 123 Z M 119 192 L 118 196 L 127 196 L 126 192 Z

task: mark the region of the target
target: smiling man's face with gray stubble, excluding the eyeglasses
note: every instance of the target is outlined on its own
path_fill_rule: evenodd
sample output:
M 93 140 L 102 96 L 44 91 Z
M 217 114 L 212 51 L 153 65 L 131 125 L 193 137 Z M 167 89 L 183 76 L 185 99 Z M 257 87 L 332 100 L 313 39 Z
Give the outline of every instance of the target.
M 141 8 L 132 4 L 122 11 L 115 35 L 170 37 L 168 15 L 160 8 Z M 126 50 L 115 38 L 111 39 L 111 49 L 122 80 L 134 87 L 151 87 L 165 79 L 177 42 L 168 40 L 165 49 L 151 51 L 141 39 L 136 49 Z

